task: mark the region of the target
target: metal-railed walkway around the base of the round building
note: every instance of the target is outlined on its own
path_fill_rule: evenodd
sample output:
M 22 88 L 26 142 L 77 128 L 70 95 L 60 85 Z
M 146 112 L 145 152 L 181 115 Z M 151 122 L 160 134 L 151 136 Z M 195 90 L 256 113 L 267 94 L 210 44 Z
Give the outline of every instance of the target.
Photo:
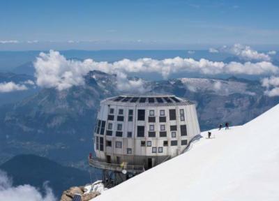
M 144 172 L 143 165 L 119 165 L 115 163 L 105 163 L 100 161 L 98 158 L 89 158 L 89 165 L 99 169 L 113 170 L 118 172 L 122 172 L 122 170 L 126 170 L 127 172 Z

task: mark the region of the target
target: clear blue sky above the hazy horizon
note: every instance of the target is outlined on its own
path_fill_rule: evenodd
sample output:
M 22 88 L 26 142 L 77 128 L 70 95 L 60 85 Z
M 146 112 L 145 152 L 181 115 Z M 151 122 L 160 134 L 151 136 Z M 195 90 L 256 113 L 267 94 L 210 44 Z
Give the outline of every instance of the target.
M 0 50 L 274 48 L 278 8 L 275 0 L 0 0 Z

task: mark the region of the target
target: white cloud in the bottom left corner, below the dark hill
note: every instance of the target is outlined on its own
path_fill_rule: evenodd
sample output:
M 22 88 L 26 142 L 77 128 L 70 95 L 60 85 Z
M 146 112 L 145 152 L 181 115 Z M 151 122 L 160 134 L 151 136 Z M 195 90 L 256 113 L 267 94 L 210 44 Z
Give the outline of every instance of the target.
M 9 201 L 54 201 L 56 198 L 52 189 L 43 185 L 45 196 L 43 196 L 35 187 L 28 184 L 13 186 L 12 181 L 5 172 L 0 170 L 0 200 Z

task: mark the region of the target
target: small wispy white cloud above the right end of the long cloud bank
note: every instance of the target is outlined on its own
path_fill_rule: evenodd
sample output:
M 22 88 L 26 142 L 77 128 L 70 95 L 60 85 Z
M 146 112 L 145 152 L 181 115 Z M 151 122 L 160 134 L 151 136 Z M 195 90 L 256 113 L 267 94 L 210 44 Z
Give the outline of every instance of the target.
M 268 54 L 259 53 L 256 50 L 252 50 L 250 46 L 234 44 L 231 47 L 224 45 L 220 48 L 220 52 L 228 52 L 229 54 L 234 54 L 241 59 L 247 61 L 270 61 L 271 57 Z

